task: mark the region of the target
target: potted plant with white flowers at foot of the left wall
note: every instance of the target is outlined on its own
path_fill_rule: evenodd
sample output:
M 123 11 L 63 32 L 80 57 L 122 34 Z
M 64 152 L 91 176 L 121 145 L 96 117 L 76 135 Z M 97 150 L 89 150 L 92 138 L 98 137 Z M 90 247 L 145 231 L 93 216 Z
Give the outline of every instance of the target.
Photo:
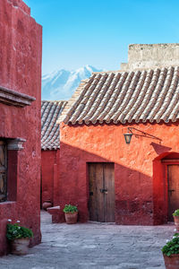
M 10 241 L 11 253 L 14 255 L 26 255 L 30 245 L 30 238 L 33 237 L 32 230 L 20 226 L 20 221 L 12 224 L 8 220 L 6 238 Z

